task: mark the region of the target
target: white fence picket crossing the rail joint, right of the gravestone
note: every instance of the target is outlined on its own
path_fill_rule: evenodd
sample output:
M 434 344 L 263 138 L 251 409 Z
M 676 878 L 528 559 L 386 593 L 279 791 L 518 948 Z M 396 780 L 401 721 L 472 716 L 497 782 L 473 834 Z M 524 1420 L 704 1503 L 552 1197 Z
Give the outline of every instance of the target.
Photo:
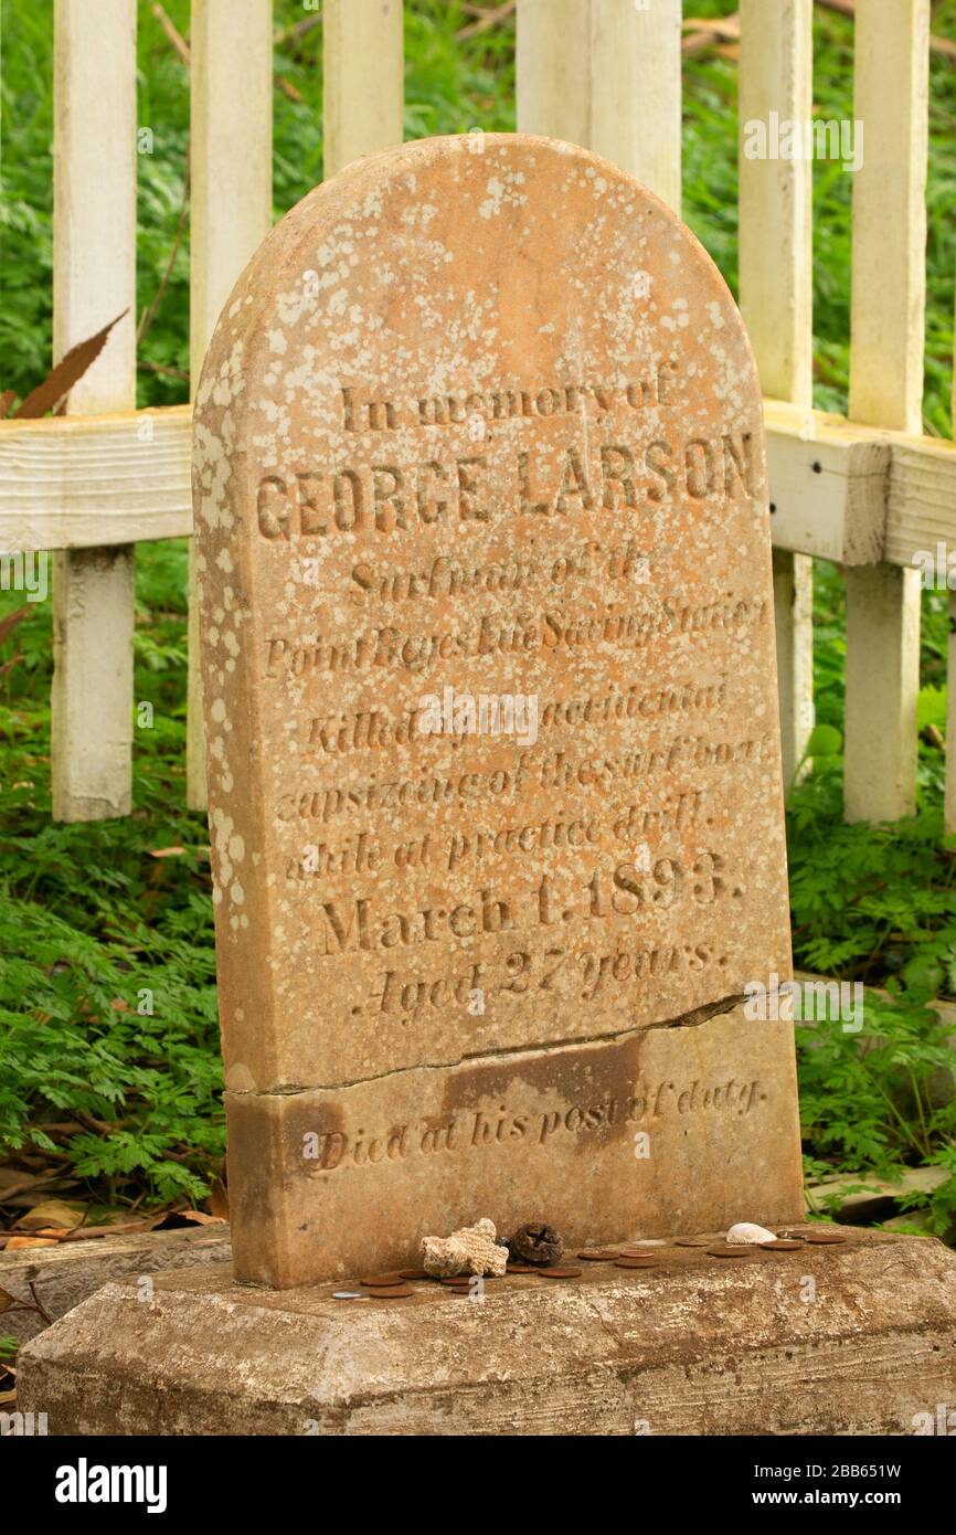
M 850 419 L 918 433 L 925 302 L 928 0 L 858 0 Z M 859 132 L 859 129 L 858 129 Z M 847 821 L 916 803 L 919 573 L 847 569 Z

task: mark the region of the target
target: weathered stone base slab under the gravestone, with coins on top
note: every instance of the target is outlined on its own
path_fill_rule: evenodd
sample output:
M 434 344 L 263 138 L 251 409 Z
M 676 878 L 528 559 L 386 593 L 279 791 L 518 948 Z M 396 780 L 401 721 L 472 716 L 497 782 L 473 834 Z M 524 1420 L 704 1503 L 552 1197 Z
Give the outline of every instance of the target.
M 28 1345 L 18 1406 L 51 1434 L 913 1434 L 956 1401 L 956 1254 L 829 1230 L 846 1245 L 666 1245 L 480 1300 L 223 1265 L 110 1283 Z

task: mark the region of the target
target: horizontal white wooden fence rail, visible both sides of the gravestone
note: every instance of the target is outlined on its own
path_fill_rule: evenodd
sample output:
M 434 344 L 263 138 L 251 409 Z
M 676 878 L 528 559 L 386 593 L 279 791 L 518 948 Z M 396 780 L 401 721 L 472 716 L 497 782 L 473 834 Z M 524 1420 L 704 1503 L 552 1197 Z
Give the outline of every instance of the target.
M 764 399 L 773 546 L 915 569 L 956 534 L 956 444 Z M 0 422 L 0 548 L 192 533 L 192 408 Z

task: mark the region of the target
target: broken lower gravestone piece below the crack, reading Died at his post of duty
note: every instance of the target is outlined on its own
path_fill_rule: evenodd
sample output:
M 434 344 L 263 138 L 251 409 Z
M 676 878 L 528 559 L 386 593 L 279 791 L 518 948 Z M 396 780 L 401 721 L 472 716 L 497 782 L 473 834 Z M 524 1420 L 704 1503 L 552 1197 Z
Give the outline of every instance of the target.
M 798 1173 L 784 1179 L 780 1160 L 796 1094 L 789 1038 L 737 1008 L 700 1028 L 232 1094 L 241 1274 L 302 1285 L 417 1263 L 424 1236 L 483 1213 L 508 1234 L 546 1211 L 582 1246 L 638 1228 L 726 1230 L 752 1211 L 799 1219 Z

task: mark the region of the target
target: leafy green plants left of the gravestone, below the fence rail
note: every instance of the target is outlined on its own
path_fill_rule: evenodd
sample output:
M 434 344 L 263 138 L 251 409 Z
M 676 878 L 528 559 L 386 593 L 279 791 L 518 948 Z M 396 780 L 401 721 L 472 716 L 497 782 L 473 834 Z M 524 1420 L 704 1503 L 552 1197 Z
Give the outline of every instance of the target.
M 20 603 L 0 597 L 0 616 Z M 51 821 L 49 606 L 23 609 L 0 652 L 0 1147 L 41 1148 L 107 1205 L 195 1202 L 224 1125 L 207 832 L 183 809 L 186 548 L 138 551 L 135 700 L 153 723 L 135 729 L 127 820 Z

